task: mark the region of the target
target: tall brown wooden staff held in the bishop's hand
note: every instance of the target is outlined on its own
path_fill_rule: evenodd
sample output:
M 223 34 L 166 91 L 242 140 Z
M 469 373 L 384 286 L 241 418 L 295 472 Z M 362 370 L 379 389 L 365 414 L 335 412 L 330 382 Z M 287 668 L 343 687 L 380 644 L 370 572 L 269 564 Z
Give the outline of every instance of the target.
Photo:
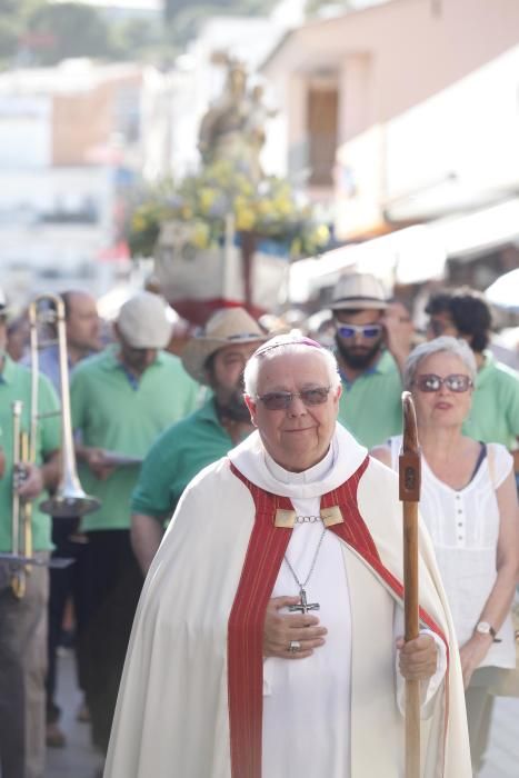
M 420 451 L 417 417 L 410 392 L 402 392 L 403 441 L 399 457 L 400 500 L 403 512 L 403 612 L 405 639 L 420 631 L 418 600 L 418 502 L 420 500 Z M 420 776 L 420 681 L 406 681 L 406 778 Z

